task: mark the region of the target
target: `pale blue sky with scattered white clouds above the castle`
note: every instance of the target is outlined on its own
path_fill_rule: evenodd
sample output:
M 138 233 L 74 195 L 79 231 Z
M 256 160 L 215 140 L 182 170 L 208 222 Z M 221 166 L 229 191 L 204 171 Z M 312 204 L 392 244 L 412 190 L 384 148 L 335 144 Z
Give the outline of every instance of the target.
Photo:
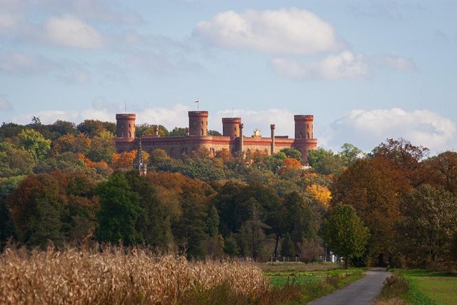
M 457 149 L 457 1 L 0 0 L 0 122 L 209 127 L 240 116 L 319 146 Z

